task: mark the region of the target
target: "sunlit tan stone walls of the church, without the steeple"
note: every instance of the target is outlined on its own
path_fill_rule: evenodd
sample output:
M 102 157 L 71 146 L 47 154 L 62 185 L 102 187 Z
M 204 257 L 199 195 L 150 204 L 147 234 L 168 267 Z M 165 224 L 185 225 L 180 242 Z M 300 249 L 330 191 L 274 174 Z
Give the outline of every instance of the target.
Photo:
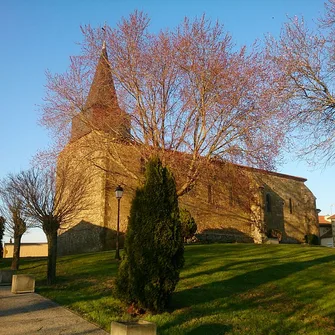
M 101 145 L 94 136 L 89 134 L 70 143 L 63 152 L 64 157 L 76 157 L 77 168 L 85 169 L 92 180 L 90 209 L 63 227 L 59 236 L 60 254 L 114 248 L 117 221 L 114 190 L 119 184 L 124 188 L 120 231 L 125 232 L 131 200 L 143 181 L 143 159 L 138 147 L 112 143 L 107 146 L 106 154 L 87 144 L 92 141 Z M 98 162 L 99 167 L 94 167 L 92 161 Z M 176 162 L 179 167 L 175 166 Z M 175 166 L 172 170 L 180 186 L 185 178 L 187 158 L 181 155 L 171 165 Z M 302 178 L 218 162 L 205 165 L 199 176 L 195 187 L 180 197 L 180 207 L 187 208 L 194 216 L 200 241 L 252 242 L 255 229 L 252 207 L 259 211 L 264 230 L 281 230 L 285 243 L 303 242 L 307 233 L 318 234 L 315 198 Z M 266 207 L 269 197 L 271 210 Z

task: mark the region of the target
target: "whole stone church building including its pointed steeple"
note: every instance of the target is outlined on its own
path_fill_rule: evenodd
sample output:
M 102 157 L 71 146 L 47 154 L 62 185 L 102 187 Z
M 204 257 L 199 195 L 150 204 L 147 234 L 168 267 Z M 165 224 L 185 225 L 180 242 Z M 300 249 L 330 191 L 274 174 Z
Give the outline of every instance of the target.
M 120 231 L 127 229 L 131 200 L 143 181 L 145 160 L 131 139 L 130 117 L 118 104 L 106 46 L 102 48 L 84 112 L 72 120 L 71 140 L 59 156 L 90 174 L 90 206 L 63 226 L 58 237 L 61 255 L 115 248 L 117 199 L 124 189 Z M 185 174 L 188 155 L 167 159 L 177 185 Z M 171 164 L 170 164 L 171 163 Z M 213 160 L 199 173 L 195 186 L 179 197 L 198 226 L 202 242 L 264 243 L 269 231 L 280 232 L 281 243 L 302 243 L 319 235 L 313 193 L 306 179 Z

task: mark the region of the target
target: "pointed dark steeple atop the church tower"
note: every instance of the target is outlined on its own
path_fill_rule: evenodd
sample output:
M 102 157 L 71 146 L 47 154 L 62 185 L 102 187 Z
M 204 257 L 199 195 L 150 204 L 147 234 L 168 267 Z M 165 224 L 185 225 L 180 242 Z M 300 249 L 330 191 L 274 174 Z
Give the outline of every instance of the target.
M 130 118 L 120 109 L 117 101 L 105 41 L 84 111 L 72 120 L 71 141 L 88 134 L 92 128 L 110 133 L 116 139 L 130 137 Z

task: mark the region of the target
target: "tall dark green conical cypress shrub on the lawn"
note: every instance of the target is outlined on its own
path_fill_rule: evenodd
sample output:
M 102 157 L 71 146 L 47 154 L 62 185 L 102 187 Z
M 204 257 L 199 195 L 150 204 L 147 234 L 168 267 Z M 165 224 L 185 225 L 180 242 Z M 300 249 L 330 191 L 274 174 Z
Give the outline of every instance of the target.
M 153 158 L 145 178 L 132 201 L 116 291 L 125 302 L 156 313 L 169 304 L 179 281 L 184 247 L 172 173 Z

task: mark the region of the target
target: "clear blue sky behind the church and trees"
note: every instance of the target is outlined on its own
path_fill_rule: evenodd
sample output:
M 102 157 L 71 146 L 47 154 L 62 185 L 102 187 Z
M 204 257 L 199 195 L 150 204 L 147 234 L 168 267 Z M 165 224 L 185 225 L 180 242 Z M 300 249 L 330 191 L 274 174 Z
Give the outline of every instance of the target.
M 219 20 L 238 45 L 250 45 L 268 33 L 278 36 L 287 16 L 303 15 L 308 23 L 323 12 L 323 0 L 1 0 L 0 1 L 0 178 L 29 168 L 33 155 L 51 139 L 38 126 L 45 71 L 64 72 L 69 56 L 80 52 L 80 25 L 115 26 L 135 9 L 151 18 L 158 31 L 185 16 L 203 13 Z M 335 213 L 334 167 L 312 170 L 287 156 L 279 172 L 308 179 L 323 214 Z M 334 205 L 333 205 L 334 204 Z M 333 206 L 332 206 L 333 205 Z M 23 241 L 42 241 L 34 230 Z

